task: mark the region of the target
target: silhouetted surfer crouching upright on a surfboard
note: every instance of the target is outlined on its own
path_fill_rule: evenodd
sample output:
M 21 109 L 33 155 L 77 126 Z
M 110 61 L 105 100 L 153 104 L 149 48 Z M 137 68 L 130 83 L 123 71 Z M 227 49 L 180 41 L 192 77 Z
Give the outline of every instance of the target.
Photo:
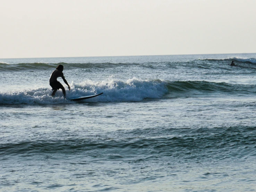
M 51 77 L 50 77 L 50 86 L 52 87 L 52 97 L 55 95 L 56 91 L 58 89 L 62 89 L 62 93 L 64 95 L 64 97 L 66 97 L 66 91 L 65 91 L 65 88 L 63 87 L 63 85 L 61 85 L 61 83 L 59 81 L 57 81 L 57 78 L 58 77 L 61 77 L 63 79 L 63 81 L 65 82 L 65 84 L 67 84 L 68 86 L 68 90 L 70 90 L 70 87 L 68 85 L 68 82 L 66 81 L 62 71 L 63 71 L 64 67 L 63 65 L 59 65 L 56 70 L 54 70 L 51 74 Z

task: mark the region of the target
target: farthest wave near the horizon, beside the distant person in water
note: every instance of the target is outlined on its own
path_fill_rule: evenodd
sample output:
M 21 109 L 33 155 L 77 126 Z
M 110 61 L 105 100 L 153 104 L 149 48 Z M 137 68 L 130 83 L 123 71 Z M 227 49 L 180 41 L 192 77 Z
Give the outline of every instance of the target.
M 236 63 L 250 63 L 256 64 L 256 58 L 226 58 L 226 59 L 197 59 L 193 61 L 167 61 L 167 62 L 142 62 L 142 63 L 18 63 L 18 64 L 8 64 L 5 62 L 0 62 L 0 72 L 12 72 L 12 71 L 25 71 L 25 70 L 53 70 L 59 64 L 62 64 L 65 69 L 105 69 L 105 68 L 117 68 L 117 67 L 127 67 L 127 66 L 138 66 L 140 68 L 147 68 L 151 70 L 162 69 L 166 70 L 170 67 L 172 69 L 179 69 L 180 67 L 191 67 L 191 68 L 204 68 L 211 69 L 216 66 L 212 65 L 216 63 L 219 66 L 220 62 L 235 61 Z M 206 64 L 210 65 L 206 65 Z

